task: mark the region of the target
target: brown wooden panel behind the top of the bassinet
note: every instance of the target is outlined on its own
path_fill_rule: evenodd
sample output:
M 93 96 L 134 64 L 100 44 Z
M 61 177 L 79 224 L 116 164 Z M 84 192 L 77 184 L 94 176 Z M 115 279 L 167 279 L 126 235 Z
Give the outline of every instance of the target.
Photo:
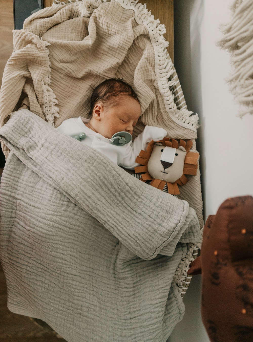
M 164 24 L 167 32 L 165 39 L 170 43 L 168 52 L 174 61 L 174 16 L 173 16 L 173 0 L 140 0 L 141 3 L 147 4 L 147 9 L 151 11 L 155 19 L 159 19 Z M 52 6 L 53 0 L 43 0 L 44 7 Z

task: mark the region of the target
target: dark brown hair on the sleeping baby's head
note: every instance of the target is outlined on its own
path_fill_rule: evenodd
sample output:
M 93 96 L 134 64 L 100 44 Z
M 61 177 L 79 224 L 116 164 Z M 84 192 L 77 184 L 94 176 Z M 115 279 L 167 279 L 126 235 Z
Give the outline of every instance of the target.
M 128 83 L 119 78 L 109 78 L 108 80 L 98 84 L 98 86 L 93 90 L 90 100 L 91 108 L 89 116 L 92 116 L 96 103 L 100 101 L 104 105 L 109 105 L 111 103 L 114 105 L 118 104 L 120 100 L 117 101 L 116 97 L 119 95 L 131 96 L 139 102 L 133 88 Z

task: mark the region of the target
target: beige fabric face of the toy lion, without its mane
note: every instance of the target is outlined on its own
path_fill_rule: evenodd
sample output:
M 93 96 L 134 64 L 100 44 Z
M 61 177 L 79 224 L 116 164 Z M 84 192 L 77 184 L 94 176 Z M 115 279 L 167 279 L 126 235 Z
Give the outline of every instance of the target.
M 147 164 L 148 173 L 154 179 L 174 183 L 183 175 L 185 156 L 182 146 L 177 149 L 155 144 Z

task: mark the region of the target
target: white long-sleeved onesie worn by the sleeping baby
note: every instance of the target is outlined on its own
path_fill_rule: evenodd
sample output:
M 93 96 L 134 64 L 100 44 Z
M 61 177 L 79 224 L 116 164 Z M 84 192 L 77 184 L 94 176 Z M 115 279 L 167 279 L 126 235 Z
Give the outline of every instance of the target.
M 79 116 L 79 118 L 64 120 L 56 129 L 73 136 L 84 132 L 87 136 L 84 140 L 81 140 L 82 144 L 95 148 L 114 163 L 126 169 L 134 169 L 139 166 L 135 159 L 151 140 L 162 140 L 167 135 L 167 131 L 163 128 L 145 126 L 143 132 L 134 141 L 130 141 L 123 146 L 114 145 L 108 138 L 85 126 L 84 123 L 89 121 L 89 119 Z

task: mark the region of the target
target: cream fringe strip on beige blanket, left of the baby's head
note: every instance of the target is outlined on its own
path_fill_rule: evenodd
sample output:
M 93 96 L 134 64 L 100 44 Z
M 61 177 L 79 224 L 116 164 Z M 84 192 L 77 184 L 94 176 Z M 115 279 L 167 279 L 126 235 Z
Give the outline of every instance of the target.
M 43 45 L 43 48 L 45 49 L 46 53 L 49 56 L 49 50 L 46 48 L 50 43 L 43 41 L 41 38 L 41 43 Z M 57 107 L 57 100 L 56 96 L 50 88 L 51 84 L 51 63 L 50 59 L 48 57 L 48 72 L 45 78 L 41 81 L 41 87 L 42 87 L 42 92 L 43 92 L 43 104 L 42 104 L 42 112 L 45 116 L 46 121 L 48 121 L 53 127 L 54 127 L 54 118 L 59 117 L 59 108 Z

